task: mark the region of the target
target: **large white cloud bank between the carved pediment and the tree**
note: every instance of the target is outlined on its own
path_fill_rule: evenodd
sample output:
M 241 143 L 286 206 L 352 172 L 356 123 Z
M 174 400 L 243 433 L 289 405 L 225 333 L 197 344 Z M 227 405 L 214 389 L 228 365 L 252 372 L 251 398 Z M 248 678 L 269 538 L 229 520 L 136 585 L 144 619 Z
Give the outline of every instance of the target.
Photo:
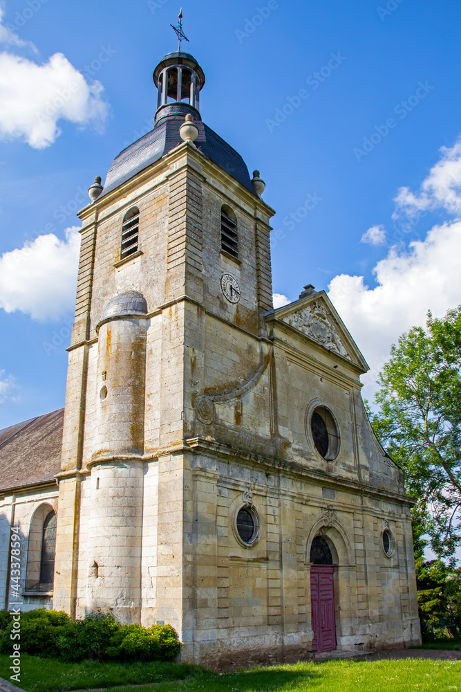
M 328 286 L 332 302 L 370 365 L 363 378 L 364 396 L 370 399 L 377 374 L 399 335 L 413 325 L 424 325 L 428 310 L 443 316 L 461 304 L 461 140 L 441 152 L 419 192 L 399 190 L 395 217 L 408 219 L 424 210 L 444 208 L 453 220 L 434 226 L 408 249 L 393 246 L 373 269 L 375 288 L 367 286 L 363 276 L 346 274 L 335 276 Z

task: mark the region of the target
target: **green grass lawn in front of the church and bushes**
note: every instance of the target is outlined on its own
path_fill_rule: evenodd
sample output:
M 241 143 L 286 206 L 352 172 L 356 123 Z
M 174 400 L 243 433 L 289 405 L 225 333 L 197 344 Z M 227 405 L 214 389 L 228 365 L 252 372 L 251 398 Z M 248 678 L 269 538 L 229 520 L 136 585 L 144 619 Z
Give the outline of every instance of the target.
M 9 679 L 8 657 L 0 656 L 0 677 Z M 27 692 L 64 692 L 104 687 L 130 692 L 449 692 L 461 691 L 461 662 L 326 661 L 213 673 L 198 666 L 166 663 L 63 664 L 24 655 L 20 687 Z M 155 683 L 155 684 L 152 684 Z

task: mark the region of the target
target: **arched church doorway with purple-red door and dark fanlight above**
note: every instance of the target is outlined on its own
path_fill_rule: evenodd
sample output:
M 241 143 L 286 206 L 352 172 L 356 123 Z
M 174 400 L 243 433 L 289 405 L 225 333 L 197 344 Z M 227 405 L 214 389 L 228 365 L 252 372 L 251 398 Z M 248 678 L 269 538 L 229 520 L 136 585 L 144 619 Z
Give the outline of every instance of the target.
M 310 605 L 314 638 L 313 651 L 336 648 L 335 567 L 330 547 L 323 536 L 315 536 L 310 547 Z

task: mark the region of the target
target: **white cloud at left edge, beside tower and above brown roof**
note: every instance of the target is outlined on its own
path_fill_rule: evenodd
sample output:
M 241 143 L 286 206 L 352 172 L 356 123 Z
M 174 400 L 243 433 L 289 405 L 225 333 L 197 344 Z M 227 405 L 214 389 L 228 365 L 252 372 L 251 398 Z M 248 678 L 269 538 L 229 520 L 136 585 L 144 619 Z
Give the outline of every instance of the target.
M 75 302 L 80 248 L 79 228 L 67 228 L 66 239 L 39 235 L 22 248 L 0 257 L 0 307 L 19 310 L 34 320 L 56 320 Z

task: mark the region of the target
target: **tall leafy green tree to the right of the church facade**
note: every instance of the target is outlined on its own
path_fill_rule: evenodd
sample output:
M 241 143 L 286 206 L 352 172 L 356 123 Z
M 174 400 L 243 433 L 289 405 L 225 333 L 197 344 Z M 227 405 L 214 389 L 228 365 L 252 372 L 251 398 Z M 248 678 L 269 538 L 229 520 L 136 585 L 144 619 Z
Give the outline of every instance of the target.
M 402 466 L 413 508 L 418 559 L 423 536 L 439 559 L 455 564 L 461 543 L 461 306 L 442 319 L 428 313 L 391 348 L 379 374 L 371 424 Z

